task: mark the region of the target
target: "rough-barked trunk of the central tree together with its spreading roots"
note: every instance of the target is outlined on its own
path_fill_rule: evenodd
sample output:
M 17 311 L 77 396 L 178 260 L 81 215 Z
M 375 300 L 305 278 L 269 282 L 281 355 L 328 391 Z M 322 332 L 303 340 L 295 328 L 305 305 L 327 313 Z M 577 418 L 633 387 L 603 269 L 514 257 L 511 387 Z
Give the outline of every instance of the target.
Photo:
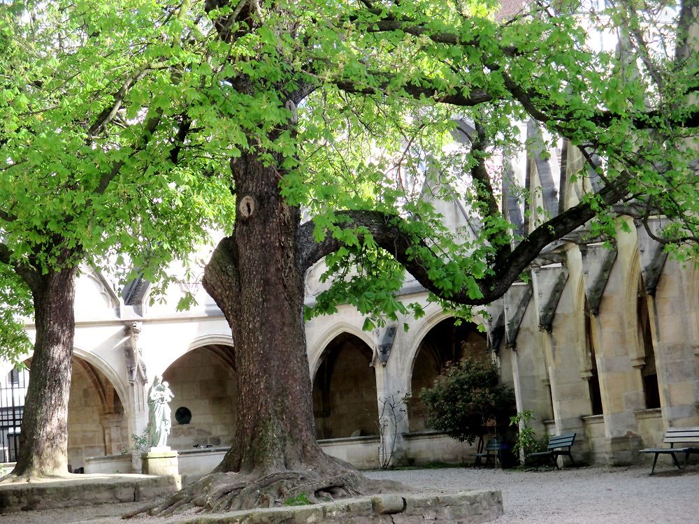
M 215 472 L 157 507 L 127 516 L 269 507 L 298 495 L 317 502 L 408 490 L 366 479 L 317 444 L 303 326 L 305 266 L 296 256 L 301 212 L 284 202 L 278 170 L 254 153 L 233 161 L 231 171 L 238 197 L 235 229 L 215 249 L 203 286 L 233 334 L 243 384 L 235 443 Z

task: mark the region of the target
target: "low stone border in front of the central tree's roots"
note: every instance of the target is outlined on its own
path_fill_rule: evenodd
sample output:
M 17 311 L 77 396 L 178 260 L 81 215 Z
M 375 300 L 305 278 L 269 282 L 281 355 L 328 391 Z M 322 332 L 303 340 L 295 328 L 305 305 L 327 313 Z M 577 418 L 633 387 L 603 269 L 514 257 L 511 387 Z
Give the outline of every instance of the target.
M 168 523 L 479 524 L 493 521 L 502 514 L 503 495 L 499 490 L 471 490 L 447 495 L 375 495 L 309 506 L 168 519 Z

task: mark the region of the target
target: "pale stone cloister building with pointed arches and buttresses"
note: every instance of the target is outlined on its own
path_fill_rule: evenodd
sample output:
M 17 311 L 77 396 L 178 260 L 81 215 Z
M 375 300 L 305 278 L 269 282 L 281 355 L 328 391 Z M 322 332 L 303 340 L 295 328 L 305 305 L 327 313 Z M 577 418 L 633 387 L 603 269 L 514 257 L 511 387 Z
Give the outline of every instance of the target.
M 533 125 L 522 131 L 540 136 Z M 593 174 L 570 176 L 582 169 L 575 148 L 562 143 L 549 155 L 536 143 L 504 166 L 503 206 L 523 231 L 538 214 L 575 205 L 598 183 Z M 535 194 L 531 210 L 510 198 L 508 180 Z M 431 198 L 428 191 L 424 198 Z M 451 228 L 477 235 L 463 203 L 434 203 Z M 656 217 L 649 228 L 662 222 Z M 344 306 L 308 322 L 315 420 L 326 451 L 359 467 L 389 455 L 405 463 L 468 462 L 468 444 L 426 427 L 418 394 L 447 361 L 469 354 L 496 360 L 519 411 L 534 412 L 538 435 L 577 432 L 573 454 L 587 463 L 647 460 L 637 450 L 661 444 L 666 428 L 699 425 L 699 269 L 695 261 L 668 258 L 631 217 L 617 224 L 617 235 L 605 242 L 577 231 L 547 247 L 526 282 L 487 308 L 487 320 L 454 326 L 407 279 L 403 298 L 426 306 L 419 320 L 365 332 L 361 314 Z M 308 272 L 309 303 L 326 285 L 321 273 L 322 265 Z M 197 305 L 177 312 L 184 291 Z M 138 467 L 131 454 L 147 425 L 145 393 L 156 374 L 175 395 L 168 442 L 180 451 L 180 469 L 195 474 L 215 466 L 233 439 L 240 384 L 229 327 L 201 283 L 183 278 L 164 303 L 150 305 L 146 282 L 117 292 L 85 267 L 76 296 L 73 470 Z M 0 363 L 0 377 L 0 457 L 7 462 L 17 448 L 27 371 Z M 407 406 L 405 395 L 412 395 Z

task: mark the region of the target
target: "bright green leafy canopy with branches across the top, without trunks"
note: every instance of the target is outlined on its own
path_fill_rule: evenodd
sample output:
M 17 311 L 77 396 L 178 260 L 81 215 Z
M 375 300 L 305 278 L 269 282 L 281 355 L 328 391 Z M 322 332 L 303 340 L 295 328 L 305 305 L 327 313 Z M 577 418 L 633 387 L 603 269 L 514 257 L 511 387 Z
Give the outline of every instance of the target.
M 565 230 L 595 215 L 608 230 L 612 204 L 672 217 L 663 241 L 696 249 L 691 1 L 599 13 L 624 36 L 618 52 L 589 48 L 577 3 L 510 20 L 479 2 L 25 4 L 3 6 L 6 263 L 42 268 L 79 247 L 150 267 L 228 219 L 228 160 L 252 150 L 313 219 L 303 263 L 332 253 L 330 272 L 359 268 L 316 312 L 405 312 L 391 298 L 403 268 L 447 300 L 488 303 Z M 455 119 L 477 131 L 447 153 Z M 512 124 L 525 119 L 580 147 L 606 183 L 521 242 L 487 166 L 521 147 Z M 428 173 L 461 183 L 479 238 L 440 225 L 419 198 Z M 365 278 L 377 272 L 388 286 Z

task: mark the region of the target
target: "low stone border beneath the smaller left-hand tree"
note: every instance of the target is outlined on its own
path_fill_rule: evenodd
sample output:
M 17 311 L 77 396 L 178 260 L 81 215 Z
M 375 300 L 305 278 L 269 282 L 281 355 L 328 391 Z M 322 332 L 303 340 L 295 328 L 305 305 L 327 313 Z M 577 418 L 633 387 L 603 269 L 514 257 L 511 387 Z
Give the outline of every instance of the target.
M 175 493 L 181 487 L 179 476 L 137 474 L 82 474 L 40 482 L 0 484 L 0 514 L 92 504 L 147 502 Z

